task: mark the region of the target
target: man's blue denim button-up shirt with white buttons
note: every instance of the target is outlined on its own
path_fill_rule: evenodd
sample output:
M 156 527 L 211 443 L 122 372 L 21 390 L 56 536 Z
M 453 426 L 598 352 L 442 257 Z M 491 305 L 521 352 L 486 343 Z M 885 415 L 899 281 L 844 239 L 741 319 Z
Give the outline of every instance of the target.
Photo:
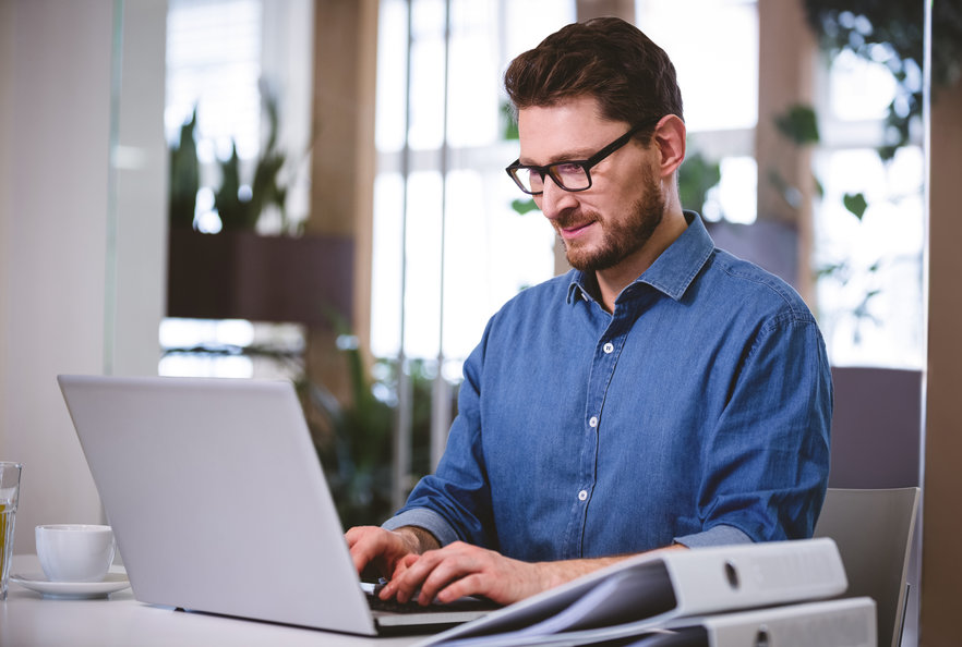
M 782 280 L 697 215 L 615 302 L 572 270 L 492 317 L 435 474 L 385 527 L 536 561 L 811 535 L 825 343 Z

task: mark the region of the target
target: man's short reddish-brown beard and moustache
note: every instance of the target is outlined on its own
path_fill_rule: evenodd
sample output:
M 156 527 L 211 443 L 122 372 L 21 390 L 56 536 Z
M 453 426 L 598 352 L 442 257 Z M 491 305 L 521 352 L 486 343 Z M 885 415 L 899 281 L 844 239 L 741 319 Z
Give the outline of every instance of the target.
M 606 220 L 597 211 L 577 211 L 554 223 L 556 231 L 579 222 L 598 222 L 601 225 L 602 239 L 597 247 L 582 248 L 561 239 L 565 245 L 565 256 L 573 268 L 582 272 L 605 270 L 618 265 L 648 243 L 661 224 L 665 199 L 653 174 L 647 169 L 641 176 L 641 197 L 630 205 L 623 218 Z

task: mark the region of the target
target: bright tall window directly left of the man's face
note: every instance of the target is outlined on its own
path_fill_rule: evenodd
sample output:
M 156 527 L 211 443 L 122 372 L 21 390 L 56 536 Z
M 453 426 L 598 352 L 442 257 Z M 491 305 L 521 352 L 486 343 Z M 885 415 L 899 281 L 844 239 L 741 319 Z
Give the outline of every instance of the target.
M 574 17 L 573 0 L 454 0 L 445 39 L 443 0 L 381 2 L 375 356 L 449 358 L 457 380 L 491 315 L 553 274 L 553 230 L 512 209 L 504 167 L 517 144 L 504 139 L 501 75 Z

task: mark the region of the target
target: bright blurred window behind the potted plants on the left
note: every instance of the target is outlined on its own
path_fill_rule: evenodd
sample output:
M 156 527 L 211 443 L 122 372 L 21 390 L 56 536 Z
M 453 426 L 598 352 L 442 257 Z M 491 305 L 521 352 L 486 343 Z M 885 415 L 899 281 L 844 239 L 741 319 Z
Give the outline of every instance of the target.
M 242 170 L 260 152 L 263 88 L 282 95 L 279 136 L 289 143 L 285 148 L 303 147 L 308 141 L 311 7 L 310 0 L 169 2 L 165 132 L 176 142 L 196 109 L 201 191 L 194 222 L 201 232 L 220 230 L 214 209 L 218 160 L 230 156 L 235 143 Z M 292 193 L 288 209 L 303 219 L 306 186 Z M 258 231 L 264 231 L 264 220 Z M 293 377 L 304 331 L 292 324 L 167 318 L 159 341 L 165 353 L 160 375 Z

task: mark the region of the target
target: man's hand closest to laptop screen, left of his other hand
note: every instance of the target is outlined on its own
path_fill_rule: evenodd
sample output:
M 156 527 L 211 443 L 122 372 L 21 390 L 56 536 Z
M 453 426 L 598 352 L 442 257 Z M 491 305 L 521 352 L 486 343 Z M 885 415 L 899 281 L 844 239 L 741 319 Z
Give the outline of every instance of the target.
M 377 526 L 357 526 L 345 533 L 358 574 L 373 566 L 390 579 L 406 569 L 404 558 L 437 548 L 434 537 L 420 528 L 386 530 Z

